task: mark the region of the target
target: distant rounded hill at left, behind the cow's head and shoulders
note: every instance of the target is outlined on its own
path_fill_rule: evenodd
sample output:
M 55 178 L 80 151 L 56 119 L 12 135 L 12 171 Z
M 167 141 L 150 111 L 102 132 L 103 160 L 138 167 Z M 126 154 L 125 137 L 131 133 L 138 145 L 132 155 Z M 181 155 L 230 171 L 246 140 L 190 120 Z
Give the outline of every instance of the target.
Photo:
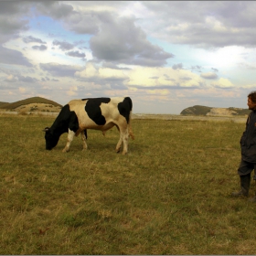
M 0 101 L 0 109 L 5 109 L 7 111 L 34 111 L 37 110 L 39 106 L 40 111 L 43 108 L 55 108 L 57 110 L 62 108 L 62 105 L 60 105 L 59 103 L 41 97 L 27 98 L 26 100 L 16 101 L 12 103 Z

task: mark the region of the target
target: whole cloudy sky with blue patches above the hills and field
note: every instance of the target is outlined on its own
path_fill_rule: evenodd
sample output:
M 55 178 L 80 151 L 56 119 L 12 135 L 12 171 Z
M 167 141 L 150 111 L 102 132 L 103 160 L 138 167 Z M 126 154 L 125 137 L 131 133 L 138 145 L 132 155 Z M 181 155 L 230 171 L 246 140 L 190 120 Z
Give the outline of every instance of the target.
M 0 1 L 0 101 L 247 108 L 255 38 L 256 1 Z

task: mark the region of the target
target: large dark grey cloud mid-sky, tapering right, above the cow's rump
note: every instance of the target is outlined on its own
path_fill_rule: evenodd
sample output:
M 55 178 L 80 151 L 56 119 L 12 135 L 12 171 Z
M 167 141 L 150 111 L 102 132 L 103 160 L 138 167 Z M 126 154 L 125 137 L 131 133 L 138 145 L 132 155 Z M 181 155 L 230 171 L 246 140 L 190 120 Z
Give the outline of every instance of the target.
M 142 66 L 163 66 L 174 55 L 150 43 L 132 18 L 101 14 L 101 31 L 91 37 L 93 57 Z

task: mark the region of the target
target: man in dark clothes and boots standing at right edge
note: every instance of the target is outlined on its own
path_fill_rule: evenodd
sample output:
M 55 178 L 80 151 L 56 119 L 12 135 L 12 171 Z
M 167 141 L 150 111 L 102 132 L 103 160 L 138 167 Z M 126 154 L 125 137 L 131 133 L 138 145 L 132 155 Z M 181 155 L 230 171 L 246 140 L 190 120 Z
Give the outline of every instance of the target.
M 241 161 L 238 169 L 240 175 L 240 191 L 233 192 L 233 197 L 248 197 L 251 184 L 251 172 L 254 170 L 253 179 L 256 180 L 256 91 L 248 95 L 248 116 L 245 131 L 240 138 Z M 256 197 L 251 199 L 256 202 Z

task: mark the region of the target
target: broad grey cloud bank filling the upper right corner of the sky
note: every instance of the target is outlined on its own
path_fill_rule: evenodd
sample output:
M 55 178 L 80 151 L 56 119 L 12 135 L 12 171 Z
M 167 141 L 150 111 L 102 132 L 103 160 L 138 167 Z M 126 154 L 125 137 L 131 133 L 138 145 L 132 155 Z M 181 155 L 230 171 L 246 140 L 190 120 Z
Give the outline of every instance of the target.
M 198 48 L 255 47 L 255 1 L 144 1 L 157 22 L 144 27 L 147 33 L 175 44 Z M 138 21 L 139 22 L 139 21 Z

